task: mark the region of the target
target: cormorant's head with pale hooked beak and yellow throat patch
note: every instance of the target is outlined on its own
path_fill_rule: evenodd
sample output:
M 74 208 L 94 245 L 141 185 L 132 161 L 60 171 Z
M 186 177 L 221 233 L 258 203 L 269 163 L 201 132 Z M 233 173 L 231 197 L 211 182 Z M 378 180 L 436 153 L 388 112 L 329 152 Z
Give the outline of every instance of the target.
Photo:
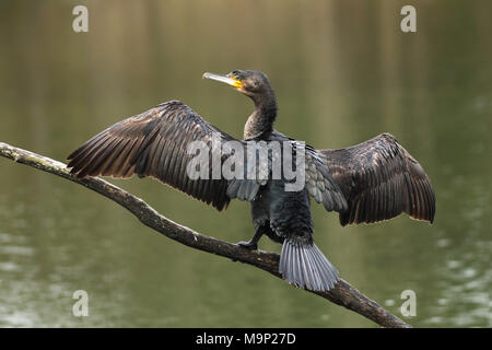
M 255 102 L 259 102 L 262 97 L 270 96 L 273 93 L 267 75 L 257 70 L 235 70 L 226 75 L 207 72 L 203 73 L 202 78 L 226 83 L 251 97 Z

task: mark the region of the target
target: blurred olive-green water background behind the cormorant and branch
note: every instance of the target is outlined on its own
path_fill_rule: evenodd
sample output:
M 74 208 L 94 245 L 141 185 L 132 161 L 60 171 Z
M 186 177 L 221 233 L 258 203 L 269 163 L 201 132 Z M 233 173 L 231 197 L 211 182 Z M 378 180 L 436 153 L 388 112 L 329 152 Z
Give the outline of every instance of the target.
M 72 31 L 73 7 L 89 33 Z M 417 33 L 400 9 L 417 8 Z M 248 98 L 204 71 L 266 72 L 277 129 L 317 148 L 393 133 L 424 166 L 435 223 L 341 228 L 314 206 L 342 278 L 417 327 L 490 327 L 492 2 L 0 1 L 0 141 L 63 161 L 107 126 L 177 98 L 237 138 Z M 242 264 L 194 250 L 114 202 L 0 159 L 0 326 L 375 327 Z M 247 203 L 219 213 L 151 179 L 112 180 L 167 218 L 249 238 Z M 262 249 L 279 252 L 267 238 Z M 72 293 L 89 293 L 89 317 Z

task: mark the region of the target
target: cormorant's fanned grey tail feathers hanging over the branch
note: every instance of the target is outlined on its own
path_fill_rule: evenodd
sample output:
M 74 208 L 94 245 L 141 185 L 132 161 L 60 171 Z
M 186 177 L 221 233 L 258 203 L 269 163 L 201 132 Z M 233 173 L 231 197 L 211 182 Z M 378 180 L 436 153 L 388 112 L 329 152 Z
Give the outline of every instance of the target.
M 305 238 L 284 241 L 279 271 L 289 283 L 312 291 L 329 291 L 340 279 L 333 265 Z

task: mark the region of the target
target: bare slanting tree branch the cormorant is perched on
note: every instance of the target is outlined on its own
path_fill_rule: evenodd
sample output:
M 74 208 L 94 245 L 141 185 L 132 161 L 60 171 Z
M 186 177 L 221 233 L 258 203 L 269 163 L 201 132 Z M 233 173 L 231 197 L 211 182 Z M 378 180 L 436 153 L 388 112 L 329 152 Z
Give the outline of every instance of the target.
M 108 182 L 105 182 L 104 179 L 101 179 L 98 177 L 87 177 L 81 179 L 75 178 L 67 170 L 65 163 L 51 160 L 49 158 L 15 148 L 3 142 L 0 142 L 0 155 L 11 159 L 14 162 L 51 173 L 54 175 L 89 187 L 90 189 L 116 201 L 118 205 L 129 210 L 144 225 L 191 248 L 213 253 L 230 258 L 234 261 L 249 264 L 281 278 L 278 270 L 278 254 L 248 250 L 236 244 L 220 241 L 195 232 L 186 226 L 166 219 L 148 203 L 145 203 L 142 199 L 127 192 L 126 190 L 113 184 L 109 184 Z M 356 290 L 342 279 L 329 292 L 312 293 L 315 293 L 332 303 L 354 311 L 375 322 L 382 327 L 411 327 L 397 316 L 383 308 L 375 301 L 370 300 L 367 296 L 362 294 L 359 290 Z

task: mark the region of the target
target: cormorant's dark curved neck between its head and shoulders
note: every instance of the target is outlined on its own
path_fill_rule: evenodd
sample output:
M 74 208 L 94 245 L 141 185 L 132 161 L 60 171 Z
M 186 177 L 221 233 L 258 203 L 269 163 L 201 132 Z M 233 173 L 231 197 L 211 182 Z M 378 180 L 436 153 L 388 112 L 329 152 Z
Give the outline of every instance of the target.
M 249 116 L 244 126 L 244 139 L 261 137 L 273 130 L 273 121 L 277 117 L 277 100 L 273 92 L 255 101 L 255 112 Z

